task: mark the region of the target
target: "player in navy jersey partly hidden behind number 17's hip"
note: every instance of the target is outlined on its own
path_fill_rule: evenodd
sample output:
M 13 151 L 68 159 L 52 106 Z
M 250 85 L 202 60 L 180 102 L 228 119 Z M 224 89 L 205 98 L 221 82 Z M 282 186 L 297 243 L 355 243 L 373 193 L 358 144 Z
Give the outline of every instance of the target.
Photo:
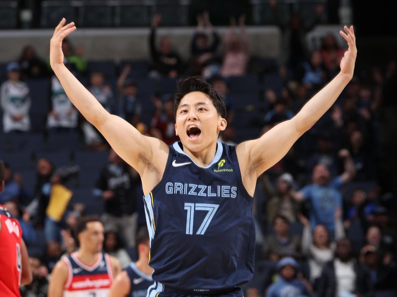
M 147 288 L 153 284 L 153 268 L 147 263 L 149 259 L 149 233 L 141 228 L 136 236 L 138 260 L 131 263 L 119 273 L 110 287 L 108 297 L 145 297 Z

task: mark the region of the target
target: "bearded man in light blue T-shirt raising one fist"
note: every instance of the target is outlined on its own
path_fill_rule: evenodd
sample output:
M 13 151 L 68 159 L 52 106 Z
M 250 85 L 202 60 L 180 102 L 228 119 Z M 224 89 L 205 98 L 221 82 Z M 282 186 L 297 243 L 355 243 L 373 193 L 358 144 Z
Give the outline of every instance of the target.
M 339 157 L 344 161 L 344 172 L 331 180 L 327 166 L 318 164 L 313 169 L 313 184 L 292 192 L 298 201 L 310 202 L 310 225 L 314 229 L 318 224 L 326 226 L 330 232 L 330 239 L 335 238 L 334 214 L 337 208 L 342 207 L 340 187 L 354 177 L 354 166 L 347 149 L 339 151 Z M 331 181 L 330 181 L 331 180 Z

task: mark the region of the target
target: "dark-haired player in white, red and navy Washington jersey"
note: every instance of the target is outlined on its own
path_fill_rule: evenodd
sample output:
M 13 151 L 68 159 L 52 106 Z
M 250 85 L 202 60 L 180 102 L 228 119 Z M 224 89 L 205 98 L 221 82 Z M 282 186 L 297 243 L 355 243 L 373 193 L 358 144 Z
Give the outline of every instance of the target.
M 76 226 L 79 248 L 55 265 L 49 297 L 106 297 L 113 278 L 120 272 L 119 260 L 102 252 L 103 224 L 96 216 L 82 217 Z

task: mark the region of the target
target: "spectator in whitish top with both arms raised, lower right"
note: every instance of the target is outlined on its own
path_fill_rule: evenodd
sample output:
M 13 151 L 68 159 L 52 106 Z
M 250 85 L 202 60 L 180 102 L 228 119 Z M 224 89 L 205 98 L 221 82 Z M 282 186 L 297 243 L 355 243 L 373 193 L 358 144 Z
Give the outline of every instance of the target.
M 329 232 L 324 225 L 317 225 L 313 230 L 310 228 L 309 220 L 300 215 L 299 219 L 302 222 L 302 253 L 309 260 L 310 268 L 310 282 L 317 288 L 318 279 L 325 264 L 333 260 L 333 255 L 336 248 L 336 242 L 344 238 L 344 230 L 340 216 L 342 211 L 338 208 L 335 212 L 335 241 L 330 240 Z

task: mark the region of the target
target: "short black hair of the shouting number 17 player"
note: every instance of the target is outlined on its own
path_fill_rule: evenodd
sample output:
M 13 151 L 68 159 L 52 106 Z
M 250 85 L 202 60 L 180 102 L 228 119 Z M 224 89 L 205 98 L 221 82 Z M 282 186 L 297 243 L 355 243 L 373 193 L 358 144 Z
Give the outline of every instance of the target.
M 218 92 L 216 92 L 212 86 L 207 83 L 202 77 L 200 76 L 192 76 L 185 79 L 180 79 L 177 82 L 177 91 L 174 97 L 174 113 L 175 117 L 177 114 L 177 109 L 179 106 L 179 102 L 181 102 L 182 98 L 185 95 L 192 93 L 192 92 L 201 92 L 204 93 L 211 99 L 212 103 L 214 104 L 216 111 L 222 118 L 226 118 L 226 103 L 223 100 L 222 96 Z

